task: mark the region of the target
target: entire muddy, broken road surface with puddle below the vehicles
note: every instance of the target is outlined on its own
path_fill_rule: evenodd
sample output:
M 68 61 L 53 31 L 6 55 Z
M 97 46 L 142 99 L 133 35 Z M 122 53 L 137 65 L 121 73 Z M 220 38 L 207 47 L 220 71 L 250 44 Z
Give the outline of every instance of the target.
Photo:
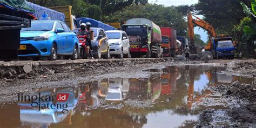
M 8 67 L 0 127 L 256 126 L 255 62 L 143 61 Z

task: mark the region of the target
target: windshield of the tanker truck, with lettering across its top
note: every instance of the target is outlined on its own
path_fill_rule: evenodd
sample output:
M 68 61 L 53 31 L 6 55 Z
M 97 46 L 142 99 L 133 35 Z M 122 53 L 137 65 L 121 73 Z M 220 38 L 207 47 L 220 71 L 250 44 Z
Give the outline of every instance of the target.
M 124 26 L 123 30 L 127 33 L 128 36 L 147 36 L 146 25 Z

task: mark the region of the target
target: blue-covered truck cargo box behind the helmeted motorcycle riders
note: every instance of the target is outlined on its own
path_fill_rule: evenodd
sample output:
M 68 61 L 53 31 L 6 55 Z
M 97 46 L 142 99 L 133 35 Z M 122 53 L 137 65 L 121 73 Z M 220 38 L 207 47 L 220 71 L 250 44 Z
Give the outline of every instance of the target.
M 92 18 L 86 18 L 86 17 L 82 17 L 82 18 L 77 18 L 77 24 L 79 25 L 78 28 L 80 28 L 80 24 L 82 23 L 86 23 L 86 22 L 90 22 L 92 24 L 91 27 L 93 28 L 102 28 L 104 29 L 105 31 L 108 31 L 108 30 L 117 30 L 116 28 L 110 26 L 110 25 L 107 25 L 107 24 L 104 24 L 100 21 L 96 21 L 95 19 L 92 19 Z

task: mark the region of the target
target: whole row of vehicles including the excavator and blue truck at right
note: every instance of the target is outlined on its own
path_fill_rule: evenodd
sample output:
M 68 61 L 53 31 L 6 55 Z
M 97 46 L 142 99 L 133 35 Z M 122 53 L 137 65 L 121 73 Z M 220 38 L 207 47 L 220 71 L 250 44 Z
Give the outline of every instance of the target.
M 175 57 L 183 52 L 188 41 L 184 37 L 178 37 L 173 28 L 160 28 L 157 24 L 145 18 L 131 18 L 123 24 L 120 29 L 116 28 L 120 24 L 104 24 L 91 18 L 76 18 L 71 15 L 72 6 L 56 6 L 45 8 L 30 2 L 33 11 L 26 12 L 30 19 L 21 25 L 8 21 L 12 26 L 6 28 L 6 18 L 0 19 L 0 31 L 3 38 L 10 35 L 5 32 L 13 30 L 14 26 L 19 26 L 16 35 L 10 37 L 11 43 L 4 41 L 3 48 L 0 49 L 0 59 L 33 59 L 47 57 L 49 60 L 58 58 L 80 59 L 87 58 L 87 46 L 79 41 L 76 36 L 80 24 L 90 22 L 93 29 L 92 54 L 94 58 L 106 58 L 117 56 L 118 58 L 130 57 Z M 11 5 L 9 5 L 11 6 Z M 1 9 L 5 9 L 0 6 Z M 5 9 L 5 12 L 10 10 Z M 16 12 L 17 10 L 12 10 Z M 11 12 L 11 11 L 10 11 Z M 11 13 L 9 12 L 9 15 Z M 8 13 L 5 13 L 8 15 Z M 26 16 L 26 17 L 28 17 Z M 16 17 L 17 19 L 17 17 Z M 199 25 L 214 37 L 208 43 L 205 50 L 212 51 L 214 58 L 229 57 L 234 58 L 234 46 L 231 37 L 215 35 L 213 26 L 200 18 L 193 19 L 188 14 L 188 33 L 191 41 L 191 51 L 194 53 L 194 24 Z M 27 24 L 27 25 L 26 25 Z M 1 30 L 4 28 L 4 30 Z M 21 32 L 19 33 L 19 30 Z M 75 32 L 75 33 L 74 33 Z M 14 39 L 15 38 L 15 39 Z M 18 38 L 18 39 L 17 39 Z M 85 52 L 86 51 L 86 52 Z M 7 53 L 7 54 L 6 54 Z M 8 55 L 8 56 L 6 56 Z

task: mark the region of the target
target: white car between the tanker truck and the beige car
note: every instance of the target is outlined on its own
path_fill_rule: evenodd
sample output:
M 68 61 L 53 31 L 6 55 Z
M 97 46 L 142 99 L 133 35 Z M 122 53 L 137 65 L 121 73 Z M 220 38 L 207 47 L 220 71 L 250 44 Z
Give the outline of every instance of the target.
M 110 55 L 117 55 L 118 58 L 130 58 L 130 43 L 125 31 L 106 31 L 109 38 Z

